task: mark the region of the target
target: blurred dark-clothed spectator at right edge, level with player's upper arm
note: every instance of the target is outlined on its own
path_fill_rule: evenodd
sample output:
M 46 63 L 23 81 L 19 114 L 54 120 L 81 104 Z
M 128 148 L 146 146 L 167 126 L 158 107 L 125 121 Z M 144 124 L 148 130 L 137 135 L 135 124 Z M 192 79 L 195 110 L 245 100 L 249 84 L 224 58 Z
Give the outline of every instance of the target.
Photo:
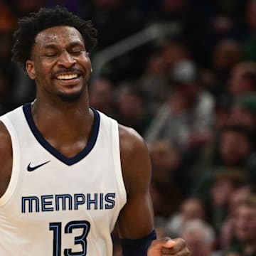
M 207 200 L 210 186 L 223 170 L 240 170 L 255 186 L 255 141 L 245 127 L 228 126 L 220 130 L 215 153 L 208 159 L 208 167 L 200 170 L 192 191 Z

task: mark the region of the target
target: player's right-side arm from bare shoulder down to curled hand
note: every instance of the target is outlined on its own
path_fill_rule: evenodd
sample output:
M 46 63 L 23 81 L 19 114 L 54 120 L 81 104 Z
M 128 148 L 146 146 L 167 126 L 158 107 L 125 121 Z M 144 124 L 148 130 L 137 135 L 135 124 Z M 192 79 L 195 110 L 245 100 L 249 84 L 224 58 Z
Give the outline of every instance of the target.
M 154 214 L 149 195 L 151 161 L 142 137 L 134 130 L 120 126 L 119 137 L 122 173 L 127 189 L 127 203 L 119 214 L 117 228 L 120 238 L 137 240 L 148 237 L 154 228 Z M 124 248 L 124 250 L 127 250 L 124 255 L 189 255 L 186 242 L 182 238 L 174 240 L 170 240 L 170 238 L 157 239 L 151 242 L 150 246 L 147 242 L 150 241 L 146 240 L 146 243 L 142 242 L 143 244 L 135 242 L 135 247 L 132 242 L 132 250 L 129 250 L 129 248 L 127 250 L 127 247 Z M 131 243 L 129 247 L 130 245 Z

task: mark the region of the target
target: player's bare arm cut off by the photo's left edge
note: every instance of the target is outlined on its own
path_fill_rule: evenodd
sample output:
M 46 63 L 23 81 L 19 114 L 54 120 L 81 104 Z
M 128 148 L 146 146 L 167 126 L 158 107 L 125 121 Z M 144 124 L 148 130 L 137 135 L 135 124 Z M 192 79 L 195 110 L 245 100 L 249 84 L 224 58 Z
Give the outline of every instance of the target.
M 9 185 L 12 168 L 11 137 L 6 127 L 0 122 L 0 198 L 4 195 Z

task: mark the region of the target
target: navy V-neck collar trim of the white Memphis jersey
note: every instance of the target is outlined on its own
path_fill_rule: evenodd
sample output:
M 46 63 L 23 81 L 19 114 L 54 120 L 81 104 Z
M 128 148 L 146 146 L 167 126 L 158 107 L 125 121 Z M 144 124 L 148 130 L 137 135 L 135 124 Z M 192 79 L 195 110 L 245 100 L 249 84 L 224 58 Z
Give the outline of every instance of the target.
M 83 159 L 87 154 L 90 153 L 92 148 L 95 146 L 100 129 L 100 114 L 97 112 L 97 110 L 92 109 L 92 111 L 94 114 L 94 122 L 92 124 L 92 133 L 90 134 L 90 138 L 87 142 L 87 145 L 76 156 L 68 158 L 66 156 L 63 156 L 63 154 L 61 154 L 57 149 L 51 146 L 43 137 L 43 135 L 38 131 L 35 122 L 33 122 L 33 117 L 31 114 L 31 103 L 26 103 L 25 105 L 23 105 L 23 112 L 28 122 L 28 126 L 30 127 L 34 137 L 47 151 L 50 152 L 50 154 L 52 154 L 53 156 L 55 156 L 57 159 L 62 161 L 64 164 L 67 164 L 68 166 L 75 164 L 81 159 Z

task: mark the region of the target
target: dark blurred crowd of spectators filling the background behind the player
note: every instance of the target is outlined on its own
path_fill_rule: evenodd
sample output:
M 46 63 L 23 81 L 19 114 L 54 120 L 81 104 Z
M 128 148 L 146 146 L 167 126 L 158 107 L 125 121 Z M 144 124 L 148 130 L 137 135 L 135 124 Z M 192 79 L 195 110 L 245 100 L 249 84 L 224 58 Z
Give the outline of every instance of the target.
M 146 140 L 159 236 L 191 256 L 256 255 L 256 1 L 0 0 L 0 114 L 35 97 L 11 62 L 18 18 L 56 4 L 98 29 L 92 64 L 152 24 L 178 28 L 106 63 L 90 105 Z

